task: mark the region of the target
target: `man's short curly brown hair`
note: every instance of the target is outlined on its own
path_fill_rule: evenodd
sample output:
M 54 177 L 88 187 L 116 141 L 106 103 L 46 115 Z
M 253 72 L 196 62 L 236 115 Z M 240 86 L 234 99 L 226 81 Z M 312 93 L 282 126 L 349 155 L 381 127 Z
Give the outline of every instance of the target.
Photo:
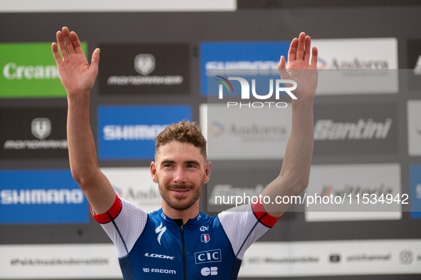
M 155 157 L 159 147 L 172 141 L 187 142 L 198 147 L 200 153 L 206 160 L 206 139 L 202 135 L 202 130 L 196 122 L 190 123 L 188 120 L 182 120 L 180 123 L 173 123 L 162 130 L 155 137 Z

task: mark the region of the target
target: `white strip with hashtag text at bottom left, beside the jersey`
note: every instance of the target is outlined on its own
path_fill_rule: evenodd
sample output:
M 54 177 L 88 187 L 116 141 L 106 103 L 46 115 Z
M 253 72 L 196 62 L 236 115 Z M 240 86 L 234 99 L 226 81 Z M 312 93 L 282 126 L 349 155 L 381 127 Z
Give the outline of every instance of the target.
M 114 244 L 0 245 L 0 279 L 123 278 Z

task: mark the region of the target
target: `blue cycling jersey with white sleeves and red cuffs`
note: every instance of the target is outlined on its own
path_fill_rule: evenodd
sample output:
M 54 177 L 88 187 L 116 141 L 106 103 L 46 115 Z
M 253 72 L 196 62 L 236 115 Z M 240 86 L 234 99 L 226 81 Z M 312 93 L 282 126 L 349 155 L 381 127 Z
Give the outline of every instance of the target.
M 125 280 L 237 279 L 246 249 L 278 220 L 248 204 L 214 217 L 199 212 L 183 225 L 118 197 L 93 217 L 117 247 Z

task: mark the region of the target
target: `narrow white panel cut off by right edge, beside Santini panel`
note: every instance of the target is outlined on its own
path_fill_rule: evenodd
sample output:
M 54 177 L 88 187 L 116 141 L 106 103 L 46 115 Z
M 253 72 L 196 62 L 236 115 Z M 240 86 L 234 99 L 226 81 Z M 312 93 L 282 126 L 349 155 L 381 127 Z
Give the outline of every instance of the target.
M 407 101 L 408 154 L 421 155 L 421 100 Z

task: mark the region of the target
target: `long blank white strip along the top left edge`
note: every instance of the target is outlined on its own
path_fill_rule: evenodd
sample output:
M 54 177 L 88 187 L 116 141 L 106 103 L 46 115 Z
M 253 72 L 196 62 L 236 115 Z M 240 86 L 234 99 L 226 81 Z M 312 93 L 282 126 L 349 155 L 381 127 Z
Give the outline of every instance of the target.
M 0 0 L 0 12 L 83 12 L 83 11 L 236 11 L 235 0 Z

